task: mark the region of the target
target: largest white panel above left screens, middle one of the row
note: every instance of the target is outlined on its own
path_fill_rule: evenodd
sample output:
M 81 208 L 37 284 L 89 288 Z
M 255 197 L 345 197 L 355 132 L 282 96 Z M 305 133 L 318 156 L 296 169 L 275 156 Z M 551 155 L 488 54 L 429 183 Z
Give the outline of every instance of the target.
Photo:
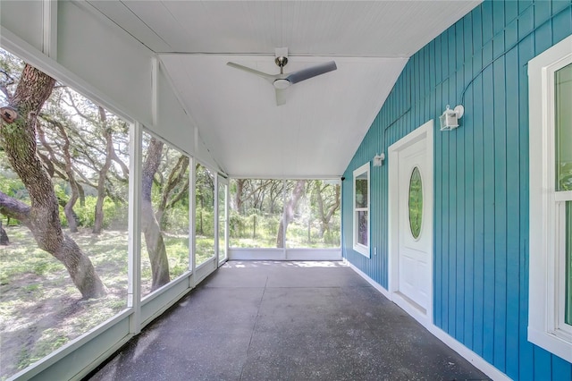
M 139 122 L 151 125 L 153 53 L 84 6 L 58 7 L 58 61 Z

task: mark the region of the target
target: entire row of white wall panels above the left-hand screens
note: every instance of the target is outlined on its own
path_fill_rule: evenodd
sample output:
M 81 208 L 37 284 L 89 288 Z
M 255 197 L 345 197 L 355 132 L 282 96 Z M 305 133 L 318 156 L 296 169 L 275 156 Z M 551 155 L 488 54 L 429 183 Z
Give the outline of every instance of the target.
M 182 108 L 161 67 L 156 78 L 156 123 L 153 123 L 152 51 L 91 9 L 89 4 L 59 2 L 57 12 L 57 63 L 62 66 L 46 57 L 46 65 L 38 65 L 40 69 L 64 72 L 57 79 L 66 83 L 70 78 L 79 77 L 85 82 L 76 86 L 67 84 L 88 96 L 101 95 L 101 99 L 92 100 L 104 106 L 113 105 L 111 109 L 115 112 L 145 124 L 190 156 L 217 167 L 204 143 L 197 141 L 200 138 L 196 137 L 193 120 Z M 29 43 L 32 50 L 38 49 L 30 54 L 41 59 L 43 55 L 38 53 L 44 41 L 42 2 L 3 0 L 0 21 L 5 29 Z M 54 67 L 56 71 L 50 70 Z M 72 75 L 65 75 L 65 71 Z

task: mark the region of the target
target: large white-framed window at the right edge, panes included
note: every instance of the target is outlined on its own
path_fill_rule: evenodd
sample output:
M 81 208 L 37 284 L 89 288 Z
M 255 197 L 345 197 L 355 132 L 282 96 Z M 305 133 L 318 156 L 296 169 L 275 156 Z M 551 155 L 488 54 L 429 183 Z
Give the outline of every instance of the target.
M 572 361 L 572 37 L 528 63 L 528 340 Z

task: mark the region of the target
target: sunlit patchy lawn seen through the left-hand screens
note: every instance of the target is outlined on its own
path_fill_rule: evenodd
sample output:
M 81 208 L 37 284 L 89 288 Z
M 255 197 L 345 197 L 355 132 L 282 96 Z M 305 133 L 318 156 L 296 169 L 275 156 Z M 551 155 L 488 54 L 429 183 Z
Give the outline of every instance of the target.
M 63 265 L 39 250 L 28 229 L 4 226 L 0 246 L 0 379 L 42 359 L 127 307 L 128 233 L 71 233 L 107 287 L 104 298 L 82 300 Z M 189 237 L 164 234 L 171 278 L 189 268 Z M 151 269 L 141 245 L 141 294 L 150 292 Z M 198 239 L 197 262 L 214 253 L 213 239 Z

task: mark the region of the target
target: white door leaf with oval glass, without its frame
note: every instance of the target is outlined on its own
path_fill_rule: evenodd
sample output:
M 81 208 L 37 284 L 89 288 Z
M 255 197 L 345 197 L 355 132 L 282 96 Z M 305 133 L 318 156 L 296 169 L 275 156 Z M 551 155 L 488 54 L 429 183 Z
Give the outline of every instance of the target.
M 399 272 L 400 292 L 422 309 L 429 301 L 429 237 L 426 216 L 426 148 L 417 141 L 399 153 Z

